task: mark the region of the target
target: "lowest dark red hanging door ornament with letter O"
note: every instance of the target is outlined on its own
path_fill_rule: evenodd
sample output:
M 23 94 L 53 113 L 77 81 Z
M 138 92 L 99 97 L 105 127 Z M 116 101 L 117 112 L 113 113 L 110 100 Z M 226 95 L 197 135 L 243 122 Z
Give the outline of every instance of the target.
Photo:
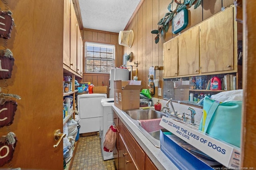
M 0 166 L 12 160 L 16 143 L 16 135 L 13 132 L 0 138 Z

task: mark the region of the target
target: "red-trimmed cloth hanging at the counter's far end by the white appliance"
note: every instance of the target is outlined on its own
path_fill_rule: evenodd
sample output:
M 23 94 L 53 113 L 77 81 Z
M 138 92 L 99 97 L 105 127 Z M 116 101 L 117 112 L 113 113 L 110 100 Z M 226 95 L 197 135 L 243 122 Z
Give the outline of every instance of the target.
M 112 152 L 116 146 L 116 127 L 111 125 L 108 131 L 106 132 L 104 139 L 104 151 Z

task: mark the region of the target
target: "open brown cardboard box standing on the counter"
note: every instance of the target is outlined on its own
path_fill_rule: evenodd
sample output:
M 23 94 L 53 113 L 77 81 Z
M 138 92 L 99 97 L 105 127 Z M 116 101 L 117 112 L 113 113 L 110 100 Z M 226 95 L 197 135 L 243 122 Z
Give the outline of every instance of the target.
M 139 109 L 141 88 L 142 85 L 128 85 L 128 82 L 114 80 L 114 105 L 121 110 Z

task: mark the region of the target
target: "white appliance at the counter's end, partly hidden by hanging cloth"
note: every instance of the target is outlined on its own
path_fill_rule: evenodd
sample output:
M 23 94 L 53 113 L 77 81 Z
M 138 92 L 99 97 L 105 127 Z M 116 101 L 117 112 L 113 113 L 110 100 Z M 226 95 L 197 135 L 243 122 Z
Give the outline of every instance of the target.
M 103 143 L 104 138 L 106 135 L 106 132 L 108 131 L 109 127 L 113 125 L 113 116 L 114 112 L 112 110 L 112 105 L 114 105 L 114 98 L 106 98 L 101 100 L 101 104 L 103 106 L 103 131 L 102 131 L 102 137 L 100 141 L 100 147 L 102 152 L 103 160 L 113 159 L 113 152 L 106 152 L 103 149 Z

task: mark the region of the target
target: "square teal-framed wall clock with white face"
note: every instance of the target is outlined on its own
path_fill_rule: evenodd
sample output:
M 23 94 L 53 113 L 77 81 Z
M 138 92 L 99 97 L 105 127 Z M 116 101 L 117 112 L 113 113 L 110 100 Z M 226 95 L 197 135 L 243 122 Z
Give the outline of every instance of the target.
M 172 33 L 176 34 L 185 29 L 188 25 L 188 10 L 182 9 L 172 19 Z

